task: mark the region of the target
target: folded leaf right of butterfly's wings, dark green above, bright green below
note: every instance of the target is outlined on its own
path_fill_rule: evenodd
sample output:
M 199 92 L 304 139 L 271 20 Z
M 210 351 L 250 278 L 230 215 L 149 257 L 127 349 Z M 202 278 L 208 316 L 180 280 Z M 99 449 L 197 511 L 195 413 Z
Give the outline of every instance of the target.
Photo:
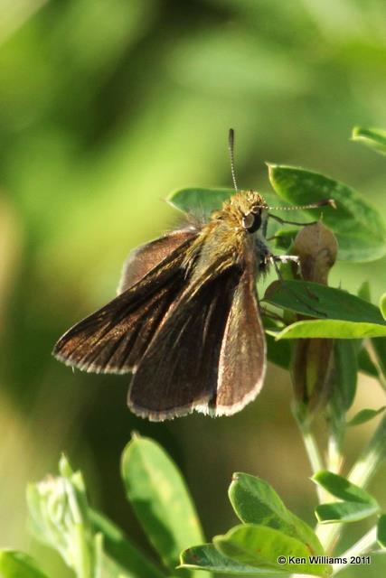
M 386 322 L 380 310 L 341 289 L 310 281 L 287 280 L 270 285 L 262 301 L 323 320 L 295 322 L 279 331 L 276 339 L 386 336 Z

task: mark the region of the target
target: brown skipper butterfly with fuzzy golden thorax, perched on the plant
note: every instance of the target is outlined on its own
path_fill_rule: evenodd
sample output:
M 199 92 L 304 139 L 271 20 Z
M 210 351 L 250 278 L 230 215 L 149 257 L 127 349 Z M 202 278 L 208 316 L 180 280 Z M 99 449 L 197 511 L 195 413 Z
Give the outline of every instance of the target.
M 71 327 L 53 350 L 89 372 L 132 373 L 127 404 L 152 421 L 193 410 L 233 415 L 264 382 L 256 282 L 270 265 L 297 257 L 271 253 L 266 201 L 237 189 L 232 130 L 230 151 L 235 193 L 221 210 L 137 247 L 118 296 Z

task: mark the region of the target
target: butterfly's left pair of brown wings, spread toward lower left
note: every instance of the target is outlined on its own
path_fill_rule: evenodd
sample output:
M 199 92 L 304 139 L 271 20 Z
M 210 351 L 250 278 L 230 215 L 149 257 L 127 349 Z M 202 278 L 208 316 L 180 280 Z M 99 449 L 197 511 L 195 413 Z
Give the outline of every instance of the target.
M 148 271 L 146 266 L 138 266 L 131 278 L 131 282 L 139 278 L 138 282 L 127 281 L 130 286 L 124 293 L 67 331 L 55 345 L 53 355 L 67 365 L 96 373 L 126 373 L 135 368 L 183 290 L 182 264 L 195 235 L 190 232 L 183 236 L 177 246 L 174 235 L 170 245 L 168 236 L 162 238 L 162 254 L 167 255 L 169 247 L 169 255 Z M 150 258 L 153 248 L 157 256 L 161 254 L 159 244 L 153 241 L 149 245 L 142 247 L 140 256 L 146 253 Z M 135 258 L 132 263 L 136 265 Z M 128 269 L 125 278 L 129 278 Z

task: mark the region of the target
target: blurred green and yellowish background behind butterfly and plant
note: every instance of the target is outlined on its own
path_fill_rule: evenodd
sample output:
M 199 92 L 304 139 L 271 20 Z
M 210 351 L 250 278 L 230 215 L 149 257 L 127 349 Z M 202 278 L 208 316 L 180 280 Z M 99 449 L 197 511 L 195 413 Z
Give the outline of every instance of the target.
M 26 482 L 65 451 L 91 503 L 147 548 L 118 471 L 133 430 L 183 469 L 208 537 L 235 521 L 232 471 L 265 478 L 313 521 L 285 372 L 270 367 L 234 417 L 148 424 L 127 410 L 129 376 L 73 373 L 51 350 L 114 296 L 128 251 L 173 226 L 170 191 L 231 186 L 230 126 L 240 186 L 267 191 L 264 161 L 292 163 L 383 212 L 385 160 L 349 136 L 386 126 L 385 28 L 383 0 L 0 0 L 0 546 L 71 575 L 25 523 Z M 337 265 L 333 284 L 355 292 L 368 279 L 376 302 L 385 263 Z M 357 406 L 381 402 L 363 379 Z M 372 427 L 350 434 L 349 456 Z M 383 506 L 385 473 L 372 484 Z

